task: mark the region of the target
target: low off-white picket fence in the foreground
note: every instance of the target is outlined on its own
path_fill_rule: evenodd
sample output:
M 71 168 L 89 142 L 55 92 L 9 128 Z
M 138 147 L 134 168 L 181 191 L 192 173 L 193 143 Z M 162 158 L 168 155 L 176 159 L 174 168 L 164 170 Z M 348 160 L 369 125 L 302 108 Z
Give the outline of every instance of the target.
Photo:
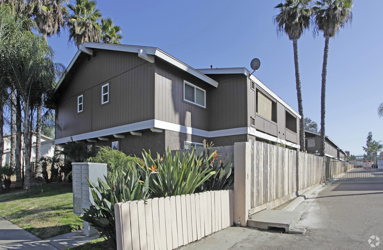
M 209 191 L 115 204 L 118 250 L 171 250 L 233 224 L 233 192 Z

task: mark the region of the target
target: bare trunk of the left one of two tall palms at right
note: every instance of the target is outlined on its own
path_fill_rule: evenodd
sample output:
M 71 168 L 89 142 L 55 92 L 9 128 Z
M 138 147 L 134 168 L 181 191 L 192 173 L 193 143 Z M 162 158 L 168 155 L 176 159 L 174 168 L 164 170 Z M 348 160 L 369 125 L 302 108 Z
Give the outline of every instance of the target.
M 298 62 L 298 41 L 293 40 L 294 48 L 294 65 L 295 65 L 295 81 L 296 81 L 296 96 L 298 97 L 298 111 L 301 115 L 299 121 L 299 139 L 301 144 L 301 151 L 306 151 L 306 140 L 304 136 L 304 118 L 303 118 L 303 103 L 302 103 L 302 92 L 301 92 L 301 77 L 299 74 L 299 62 Z

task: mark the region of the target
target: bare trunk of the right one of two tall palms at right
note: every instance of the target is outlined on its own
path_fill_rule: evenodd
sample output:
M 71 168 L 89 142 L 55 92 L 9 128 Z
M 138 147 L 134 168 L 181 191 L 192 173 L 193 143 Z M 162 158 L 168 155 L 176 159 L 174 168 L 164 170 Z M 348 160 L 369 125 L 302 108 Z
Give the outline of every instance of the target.
M 326 37 L 324 40 L 324 54 L 323 54 L 323 67 L 322 67 L 322 91 L 321 91 L 321 144 L 320 154 L 321 156 L 326 155 L 325 146 L 325 130 L 324 130 L 324 118 L 326 113 L 326 75 L 327 75 L 327 58 L 329 56 L 329 41 L 330 38 Z

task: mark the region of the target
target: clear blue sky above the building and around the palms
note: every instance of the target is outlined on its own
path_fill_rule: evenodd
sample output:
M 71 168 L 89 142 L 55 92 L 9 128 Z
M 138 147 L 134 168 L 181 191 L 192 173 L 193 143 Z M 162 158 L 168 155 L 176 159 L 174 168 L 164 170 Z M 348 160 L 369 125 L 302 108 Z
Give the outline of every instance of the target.
M 73 3 L 74 1 L 70 1 Z M 280 1 L 99 1 L 104 17 L 123 28 L 122 44 L 158 47 L 193 68 L 246 67 L 261 61 L 255 76 L 298 110 L 293 44 L 277 37 L 272 17 Z M 354 1 L 352 25 L 330 40 L 326 87 L 326 135 L 351 154 L 362 154 L 367 134 L 383 140 L 381 0 Z M 51 37 L 56 61 L 67 66 L 77 52 L 67 31 Z M 298 40 L 304 117 L 320 123 L 324 38 L 307 31 Z M 219 108 L 219 107 L 217 107 Z

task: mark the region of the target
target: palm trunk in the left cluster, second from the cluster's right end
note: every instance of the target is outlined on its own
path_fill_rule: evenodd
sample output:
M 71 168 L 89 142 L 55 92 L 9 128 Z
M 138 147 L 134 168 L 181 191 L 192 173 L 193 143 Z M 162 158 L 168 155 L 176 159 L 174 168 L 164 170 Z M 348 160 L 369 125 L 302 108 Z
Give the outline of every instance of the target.
M 29 124 L 28 111 L 31 107 L 24 102 L 24 162 L 25 162 L 25 178 L 24 189 L 31 185 L 31 151 L 32 151 L 32 131 Z

